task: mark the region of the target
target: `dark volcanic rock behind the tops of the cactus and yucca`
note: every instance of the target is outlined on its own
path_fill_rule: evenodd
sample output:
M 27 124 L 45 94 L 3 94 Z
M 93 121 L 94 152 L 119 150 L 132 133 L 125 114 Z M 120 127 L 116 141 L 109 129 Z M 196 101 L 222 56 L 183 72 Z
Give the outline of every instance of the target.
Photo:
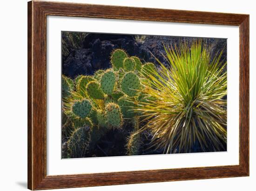
M 187 42 L 198 38 L 147 36 L 143 42 L 137 42 L 134 35 L 90 33 L 83 42 L 83 47 L 72 51 L 67 58 L 62 58 L 62 73 L 71 78 L 79 74 L 93 74 L 99 69 L 110 67 L 111 52 L 116 48 L 124 49 L 129 56 L 138 56 L 143 62 L 153 62 L 158 65 L 155 58 L 163 64 L 168 64 L 164 58 L 164 46 L 177 46 L 180 42 Z M 209 46 L 212 59 L 217 52 L 223 50 L 222 59 L 227 60 L 226 39 L 204 38 Z

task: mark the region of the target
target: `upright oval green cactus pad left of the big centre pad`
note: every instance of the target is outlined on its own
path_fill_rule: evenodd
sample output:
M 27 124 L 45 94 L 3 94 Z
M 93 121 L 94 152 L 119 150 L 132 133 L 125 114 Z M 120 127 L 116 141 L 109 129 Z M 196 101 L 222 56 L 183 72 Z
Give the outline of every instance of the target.
M 115 73 L 112 71 L 106 71 L 101 77 L 101 90 L 111 95 L 115 86 Z

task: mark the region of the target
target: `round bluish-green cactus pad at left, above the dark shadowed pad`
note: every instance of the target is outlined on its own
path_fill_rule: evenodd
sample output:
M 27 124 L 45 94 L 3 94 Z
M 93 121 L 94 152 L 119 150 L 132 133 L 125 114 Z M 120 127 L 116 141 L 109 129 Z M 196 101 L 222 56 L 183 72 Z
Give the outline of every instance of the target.
M 74 102 L 72 106 L 72 112 L 80 118 L 86 118 L 90 113 L 91 109 L 92 109 L 92 105 L 90 101 L 87 99 Z

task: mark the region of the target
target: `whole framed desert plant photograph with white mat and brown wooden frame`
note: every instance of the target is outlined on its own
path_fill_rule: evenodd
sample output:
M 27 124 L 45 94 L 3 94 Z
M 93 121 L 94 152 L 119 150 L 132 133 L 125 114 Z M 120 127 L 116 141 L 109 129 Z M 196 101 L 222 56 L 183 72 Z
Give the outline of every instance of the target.
M 249 15 L 28 2 L 28 188 L 249 176 Z

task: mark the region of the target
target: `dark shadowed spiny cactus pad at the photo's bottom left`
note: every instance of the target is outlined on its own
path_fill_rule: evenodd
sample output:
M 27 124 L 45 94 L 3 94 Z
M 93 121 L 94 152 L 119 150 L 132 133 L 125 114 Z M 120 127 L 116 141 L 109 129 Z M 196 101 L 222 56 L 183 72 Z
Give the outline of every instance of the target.
M 71 158 L 85 157 L 90 142 L 90 128 L 83 126 L 75 130 L 67 141 L 67 148 Z

